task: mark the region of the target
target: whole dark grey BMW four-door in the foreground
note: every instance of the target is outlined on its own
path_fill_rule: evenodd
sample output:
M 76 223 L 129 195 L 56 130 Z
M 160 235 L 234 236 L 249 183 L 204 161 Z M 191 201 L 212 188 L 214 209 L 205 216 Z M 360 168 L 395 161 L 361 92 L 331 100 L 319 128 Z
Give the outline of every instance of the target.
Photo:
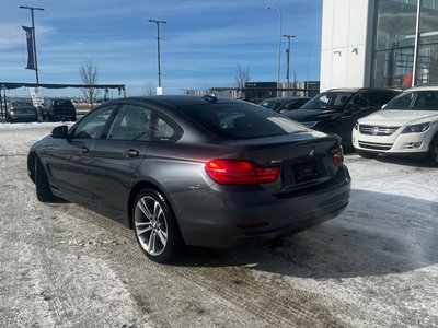
M 183 245 L 268 241 L 335 218 L 350 177 L 337 136 L 214 95 L 107 102 L 30 150 L 41 201 L 90 206 L 169 261 Z

